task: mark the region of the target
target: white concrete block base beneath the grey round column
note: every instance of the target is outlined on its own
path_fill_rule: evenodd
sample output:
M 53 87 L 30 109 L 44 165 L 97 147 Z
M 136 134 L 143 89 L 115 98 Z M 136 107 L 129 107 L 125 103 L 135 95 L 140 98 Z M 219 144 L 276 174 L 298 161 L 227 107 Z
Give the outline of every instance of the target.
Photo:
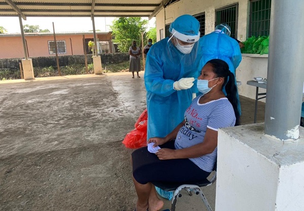
M 215 210 L 304 210 L 303 130 L 278 141 L 264 123 L 220 129 Z

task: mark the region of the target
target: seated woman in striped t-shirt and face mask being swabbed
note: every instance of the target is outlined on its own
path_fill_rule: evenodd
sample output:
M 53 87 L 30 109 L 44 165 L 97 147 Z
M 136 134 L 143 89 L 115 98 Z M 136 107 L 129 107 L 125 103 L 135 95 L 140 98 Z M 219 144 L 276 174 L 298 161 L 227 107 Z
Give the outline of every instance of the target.
M 223 85 L 227 96 L 222 91 Z M 154 154 L 142 147 L 132 153 L 133 182 L 138 196 L 136 211 L 163 207 L 164 202 L 151 182 L 185 184 L 207 178 L 216 162 L 217 130 L 239 125 L 237 87 L 227 63 L 219 59 L 207 62 L 197 87 L 203 94 L 185 111 L 184 121 L 166 137 L 148 140 L 161 149 Z

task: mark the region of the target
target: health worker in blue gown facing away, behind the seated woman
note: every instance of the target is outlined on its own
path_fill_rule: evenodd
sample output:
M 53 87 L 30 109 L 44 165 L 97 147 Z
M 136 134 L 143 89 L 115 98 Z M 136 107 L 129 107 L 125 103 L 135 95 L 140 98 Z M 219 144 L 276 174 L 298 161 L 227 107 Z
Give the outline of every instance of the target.
M 230 37 L 230 34 L 230 26 L 222 23 L 217 25 L 213 32 L 200 38 L 198 52 L 201 61 L 198 66 L 198 72 L 201 72 L 201 69 L 208 61 L 220 59 L 228 64 L 229 70 L 236 77 L 236 69 L 242 61 L 242 55 L 239 43 L 234 38 Z M 237 81 L 235 82 L 237 85 Z M 224 87 L 223 92 L 226 94 Z M 238 93 L 237 98 L 240 100 Z M 240 104 L 239 112 L 241 114 Z

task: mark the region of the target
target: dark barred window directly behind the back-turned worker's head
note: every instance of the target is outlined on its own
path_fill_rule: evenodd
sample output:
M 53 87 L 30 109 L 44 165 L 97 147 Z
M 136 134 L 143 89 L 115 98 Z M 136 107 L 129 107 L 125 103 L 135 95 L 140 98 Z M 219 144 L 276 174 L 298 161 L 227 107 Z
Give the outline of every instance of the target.
M 231 28 L 230 36 L 237 38 L 238 5 L 215 10 L 215 26 L 221 23 L 228 24 Z

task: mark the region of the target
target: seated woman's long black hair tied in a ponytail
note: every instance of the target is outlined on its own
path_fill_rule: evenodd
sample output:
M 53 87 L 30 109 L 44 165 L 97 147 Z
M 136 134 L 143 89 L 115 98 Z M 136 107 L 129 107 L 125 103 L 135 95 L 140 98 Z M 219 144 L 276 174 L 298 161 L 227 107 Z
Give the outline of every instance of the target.
M 227 93 L 227 99 L 231 102 L 233 106 L 233 110 L 236 115 L 236 124 L 235 126 L 240 125 L 240 112 L 239 112 L 239 98 L 238 98 L 238 88 L 236 86 L 236 80 L 234 74 L 229 70 L 229 66 L 226 62 L 213 59 L 207 62 L 207 64 L 212 66 L 213 72 L 215 73 L 216 77 L 223 77 L 224 83 L 222 86 L 225 86 L 225 91 Z

